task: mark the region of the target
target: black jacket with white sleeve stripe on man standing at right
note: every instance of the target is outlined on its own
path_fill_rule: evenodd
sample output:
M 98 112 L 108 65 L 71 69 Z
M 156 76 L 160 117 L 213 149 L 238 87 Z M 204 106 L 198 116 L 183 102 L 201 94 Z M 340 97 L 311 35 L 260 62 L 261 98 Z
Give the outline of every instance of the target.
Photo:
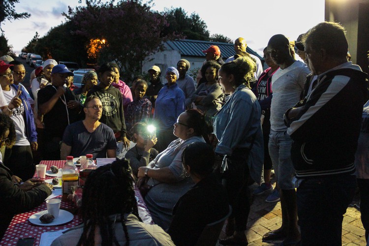
M 319 75 L 287 130 L 297 178 L 354 173 L 366 76 L 351 62 Z

